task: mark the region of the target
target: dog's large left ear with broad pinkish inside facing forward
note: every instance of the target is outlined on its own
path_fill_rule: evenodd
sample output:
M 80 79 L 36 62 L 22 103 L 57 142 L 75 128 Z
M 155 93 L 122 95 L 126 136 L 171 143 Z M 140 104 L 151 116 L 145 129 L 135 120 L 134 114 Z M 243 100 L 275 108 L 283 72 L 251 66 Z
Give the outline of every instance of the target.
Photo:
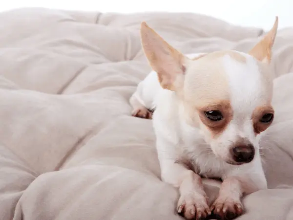
M 182 86 L 186 57 L 161 38 L 146 22 L 141 23 L 141 40 L 146 58 L 158 74 L 162 88 L 176 91 Z

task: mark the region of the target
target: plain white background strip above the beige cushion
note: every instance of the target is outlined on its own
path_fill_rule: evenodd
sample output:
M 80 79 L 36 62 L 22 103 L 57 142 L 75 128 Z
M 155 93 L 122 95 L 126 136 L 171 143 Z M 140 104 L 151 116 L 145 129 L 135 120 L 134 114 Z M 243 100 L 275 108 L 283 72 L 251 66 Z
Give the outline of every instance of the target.
M 0 11 L 19 7 L 134 13 L 145 11 L 194 12 L 227 22 L 270 29 L 293 26 L 293 0 L 1 0 Z

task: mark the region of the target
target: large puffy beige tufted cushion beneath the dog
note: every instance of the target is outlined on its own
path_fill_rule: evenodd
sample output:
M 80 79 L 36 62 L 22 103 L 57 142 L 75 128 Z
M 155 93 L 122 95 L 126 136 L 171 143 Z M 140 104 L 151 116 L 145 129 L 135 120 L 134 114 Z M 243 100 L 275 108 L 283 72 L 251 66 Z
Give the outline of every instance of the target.
M 0 21 L 0 219 L 181 219 L 177 190 L 159 177 L 151 121 L 130 116 L 128 99 L 150 70 L 140 22 L 183 53 L 246 52 L 263 31 L 195 14 L 41 8 Z M 262 138 L 274 189 L 246 197 L 239 220 L 293 219 L 292 39 L 292 28 L 276 39 L 272 66 L 283 76 Z

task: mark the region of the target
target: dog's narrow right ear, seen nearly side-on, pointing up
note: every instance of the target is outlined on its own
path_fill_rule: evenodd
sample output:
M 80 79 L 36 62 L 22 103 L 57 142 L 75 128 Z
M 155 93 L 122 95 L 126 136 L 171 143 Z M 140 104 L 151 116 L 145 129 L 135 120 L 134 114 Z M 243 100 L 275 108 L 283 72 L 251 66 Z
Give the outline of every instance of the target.
M 272 58 L 272 45 L 276 37 L 277 29 L 278 17 L 276 17 L 272 29 L 251 49 L 249 54 L 261 62 L 270 63 Z

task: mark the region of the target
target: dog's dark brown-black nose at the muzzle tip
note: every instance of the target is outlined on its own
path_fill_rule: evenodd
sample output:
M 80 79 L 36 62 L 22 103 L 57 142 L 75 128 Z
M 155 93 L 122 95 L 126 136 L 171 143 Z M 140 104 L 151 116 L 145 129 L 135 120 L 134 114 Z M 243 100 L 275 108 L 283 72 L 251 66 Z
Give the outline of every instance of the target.
M 237 163 L 249 163 L 253 160 L 255 150 L 252 144 L 232 148 L 233 160 Z

